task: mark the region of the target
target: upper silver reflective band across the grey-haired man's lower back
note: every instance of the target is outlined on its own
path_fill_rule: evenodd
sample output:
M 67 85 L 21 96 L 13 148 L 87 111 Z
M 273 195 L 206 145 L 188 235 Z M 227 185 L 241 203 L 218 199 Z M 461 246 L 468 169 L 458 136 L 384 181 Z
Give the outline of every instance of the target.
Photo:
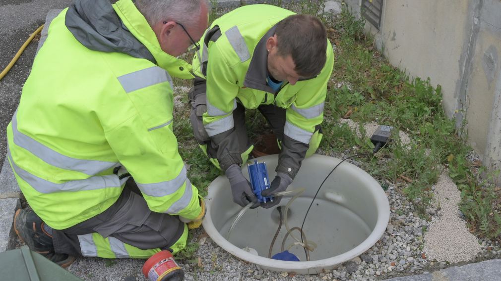
M 14 112 L 14 116 L 12 117 L 12 131 L 14 135 L 13 139 L 14 143 L 30 151 L 35 156 L 39 157 L 41 160 L 43 160 L 48 164 L 51 164 L 55 167 L 62 169 L 83 172 L 88 175 L 98 174 L 106 169 L 112 168 L 120 164 L 118 162 L 77 159 L 63 155 L 45 146 L 44 144 L 36 141 L 30 136 L 20 132 L 18 130 L 17 114 L 18 110 Z

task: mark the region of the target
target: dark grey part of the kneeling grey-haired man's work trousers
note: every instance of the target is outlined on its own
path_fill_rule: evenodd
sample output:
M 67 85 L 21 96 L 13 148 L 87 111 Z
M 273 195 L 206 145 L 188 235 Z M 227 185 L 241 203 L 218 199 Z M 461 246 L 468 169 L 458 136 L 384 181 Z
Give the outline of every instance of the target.
M 68 206 L 71 207 L 71 206 Z M 122 194 L 108 209 L 66 229 L 53 231 L 54 250 L 81 256 L 78 235 L 98 232 L 140 249 L 168 249 L 182 235 L 184 223 L 177 215 L 153 212 L 134 180 L 127 180 Z

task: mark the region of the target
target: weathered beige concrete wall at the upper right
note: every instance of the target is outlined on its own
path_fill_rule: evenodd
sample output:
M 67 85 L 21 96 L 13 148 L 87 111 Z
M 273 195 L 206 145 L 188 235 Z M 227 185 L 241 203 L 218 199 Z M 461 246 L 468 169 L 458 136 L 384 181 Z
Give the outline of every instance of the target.
M 361 0 L 347 2 L 360 14 Z M 366 29 L 391 64 L 442 86 L 447 115 L 466 119 L 471 146 L 499 169 L 501 1 L 383 0 L 379 30 Z

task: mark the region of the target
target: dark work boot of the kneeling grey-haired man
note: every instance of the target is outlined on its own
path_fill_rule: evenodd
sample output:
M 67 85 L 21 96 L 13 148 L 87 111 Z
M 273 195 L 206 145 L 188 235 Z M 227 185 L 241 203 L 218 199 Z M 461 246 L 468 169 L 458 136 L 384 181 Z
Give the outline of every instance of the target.
M 14 230 L 28 247 L 62 267 L 68 267 L 75 257 L 55 253 L 52 235 L 44 229 L 45 222 L 33 210 L 24 208 L 16 211 Z

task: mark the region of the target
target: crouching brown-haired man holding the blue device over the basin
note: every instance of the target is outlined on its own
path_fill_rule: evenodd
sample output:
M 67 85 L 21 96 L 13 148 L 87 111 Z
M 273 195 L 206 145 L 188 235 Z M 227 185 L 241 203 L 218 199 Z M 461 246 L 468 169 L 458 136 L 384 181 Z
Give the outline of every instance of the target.
M 281 145 L 267 196 L 293 181 L 322 138 L 327 82 L 334 54 L 322 22 L 271 5 L 247 5 L 214 20 L 193 58 L 191 123 L 200 147 L 225 171 L 233 201 L 256 202 L 240 166 L 253 145 L 245 108 L 258 108 Z M 280 197 L 263 204 L 272 207 Z

